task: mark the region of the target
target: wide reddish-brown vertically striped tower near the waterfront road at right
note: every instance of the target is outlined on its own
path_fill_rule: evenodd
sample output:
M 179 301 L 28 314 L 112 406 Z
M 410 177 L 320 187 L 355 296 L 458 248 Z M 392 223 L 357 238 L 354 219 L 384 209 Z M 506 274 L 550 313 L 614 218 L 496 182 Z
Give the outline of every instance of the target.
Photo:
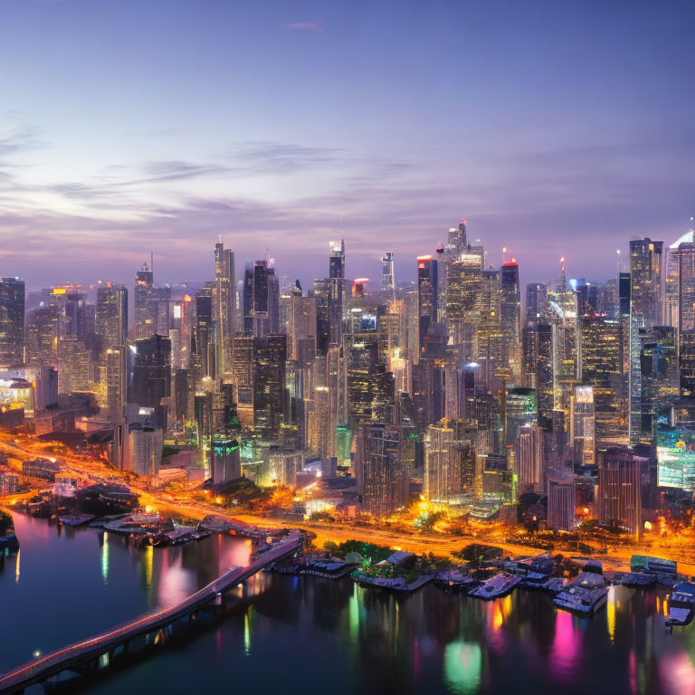
M 649 460 L 624 448 L 601 452 L 598 469 L 598 508 L 601 522 L 642 533 L 642 475 Z

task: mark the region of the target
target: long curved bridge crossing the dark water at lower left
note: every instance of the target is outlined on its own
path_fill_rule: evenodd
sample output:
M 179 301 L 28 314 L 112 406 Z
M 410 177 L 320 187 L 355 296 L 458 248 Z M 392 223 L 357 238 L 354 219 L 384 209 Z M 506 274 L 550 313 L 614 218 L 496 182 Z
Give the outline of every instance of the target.
M 157 633 L 167 625 L 195 614 L 224 590 L 255 575 L 271 562 L 296 552 L 303 543 L 302 534 L 299 531 L 292 532 L 256 557 L 250 565 L 231 568 L 181 603 L 141 615 L 128 623 L 119 624 L 103 633 L 45 654 L 8 671 L 0 676 L 0 695 L 24 692 L 25 688 L 57 676 L 62 671 L 83 672 L 85 664 L 98 663 L 102 655 L 113 654 L 117 647 L 128 650 L 133 640 L 149 633 Z

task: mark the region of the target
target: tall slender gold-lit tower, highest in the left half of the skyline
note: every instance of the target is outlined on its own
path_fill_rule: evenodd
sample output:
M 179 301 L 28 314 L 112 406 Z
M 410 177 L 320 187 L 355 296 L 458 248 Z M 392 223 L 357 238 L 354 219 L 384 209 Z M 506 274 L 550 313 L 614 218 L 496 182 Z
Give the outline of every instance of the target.
M 231 373 L 234 362 L 234 252 L 219 241 L 214 244 L 215 367 L 218 374 Z

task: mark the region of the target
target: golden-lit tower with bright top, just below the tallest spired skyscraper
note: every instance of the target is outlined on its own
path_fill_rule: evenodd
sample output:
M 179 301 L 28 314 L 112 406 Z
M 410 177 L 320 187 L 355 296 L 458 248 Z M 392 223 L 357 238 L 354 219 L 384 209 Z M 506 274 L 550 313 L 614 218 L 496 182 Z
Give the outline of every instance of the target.
M 464 361 L 471 361 L 477 353 L 481 291 L 480 257 L 473 253 L 460 253 L 457 260 L 450 262 L 447 272 L 446 318 L 453 344 L 462 348 Z

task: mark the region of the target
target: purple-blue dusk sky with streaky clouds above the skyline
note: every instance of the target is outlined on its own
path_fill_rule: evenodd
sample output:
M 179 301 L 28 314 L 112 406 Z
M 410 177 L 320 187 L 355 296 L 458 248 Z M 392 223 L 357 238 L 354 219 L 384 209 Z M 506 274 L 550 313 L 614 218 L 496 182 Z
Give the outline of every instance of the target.
M 692 2 L 0 0 L 0 274 L 399 280 L 468 220 L 605 280 L 695 214 Z

